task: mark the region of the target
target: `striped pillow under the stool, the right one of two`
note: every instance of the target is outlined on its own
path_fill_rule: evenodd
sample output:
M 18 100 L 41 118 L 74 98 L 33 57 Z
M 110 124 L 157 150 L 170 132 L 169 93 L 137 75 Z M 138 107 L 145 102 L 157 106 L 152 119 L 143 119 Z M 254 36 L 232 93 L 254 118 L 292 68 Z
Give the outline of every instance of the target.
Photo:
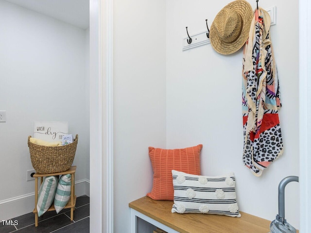
M 64 209 L 64 207 L 68 203 L 70 199 L 70 193 L 71 193 L 71 174 L 63 175 L 59 179 L 54 198 L 54 207 L 57 214 L 62 209 Z

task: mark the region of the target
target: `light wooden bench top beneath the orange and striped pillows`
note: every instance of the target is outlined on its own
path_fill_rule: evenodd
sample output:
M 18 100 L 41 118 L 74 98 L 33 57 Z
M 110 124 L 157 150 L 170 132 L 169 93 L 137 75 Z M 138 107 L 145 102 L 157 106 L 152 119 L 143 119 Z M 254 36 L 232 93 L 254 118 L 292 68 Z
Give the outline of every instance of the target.
M 269 233 L 271 221 L 243 212 L 241 217 L 172 213 L 173 201 L 143 197 L 129 207 L 180 233 Z

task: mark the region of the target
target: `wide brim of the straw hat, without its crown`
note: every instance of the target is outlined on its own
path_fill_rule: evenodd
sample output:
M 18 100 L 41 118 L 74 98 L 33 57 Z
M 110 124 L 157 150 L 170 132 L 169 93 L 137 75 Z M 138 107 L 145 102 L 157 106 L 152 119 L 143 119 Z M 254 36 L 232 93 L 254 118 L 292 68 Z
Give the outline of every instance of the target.
M 225 8 L 233 9 L 242 17 L 242 30 L 240 36 L 234 42 L 226 43 L 215 32 L 216 28 L 213 21 L 212 25 L 210 26 L 209 39 L 214 50 L 221 54 L 227 55 L 240 50 L 245 44 L 248 38 L 249 29 L 252 19 L 254 17 L 254 13 L 252 6 L 245 0 L 235 0 L 230 2 L 218 14 L 220 14 Z M 216 18 L 217 16 L 215 17 L 215 19 Z

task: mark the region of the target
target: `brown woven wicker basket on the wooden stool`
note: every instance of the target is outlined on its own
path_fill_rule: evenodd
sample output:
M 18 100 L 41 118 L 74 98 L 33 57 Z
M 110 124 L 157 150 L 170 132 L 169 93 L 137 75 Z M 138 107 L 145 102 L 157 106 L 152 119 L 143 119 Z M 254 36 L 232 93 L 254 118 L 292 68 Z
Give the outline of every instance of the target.
M 31 143 L 30 138 L 31 136 L 28 136 L 28 147 L 35 172 L 39 174 L 62 172 L 72 165 L 78 144 L 78 134 L 72 143 L 61 147 L 39 146 Z

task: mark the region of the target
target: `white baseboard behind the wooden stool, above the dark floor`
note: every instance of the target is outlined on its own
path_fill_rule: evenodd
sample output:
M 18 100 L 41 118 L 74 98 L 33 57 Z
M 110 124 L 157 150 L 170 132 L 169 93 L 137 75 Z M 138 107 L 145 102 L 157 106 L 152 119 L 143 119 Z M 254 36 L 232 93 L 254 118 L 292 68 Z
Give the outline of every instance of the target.
M 77 197 L 89 196 L 89 180 L 75 182 L 75 195 Z M 33 212 L 35 207 L 35 192 L 18 197 L 0 200 L 0 221 Z

